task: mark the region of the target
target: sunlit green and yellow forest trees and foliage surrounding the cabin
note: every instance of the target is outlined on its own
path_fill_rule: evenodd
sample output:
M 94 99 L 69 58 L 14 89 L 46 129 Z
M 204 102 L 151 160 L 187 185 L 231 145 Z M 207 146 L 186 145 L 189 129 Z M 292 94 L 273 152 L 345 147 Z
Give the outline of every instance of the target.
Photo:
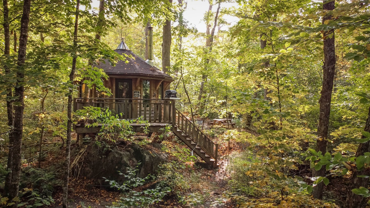
M 78 155 L 76 150 L 82 152 L 83 142 L 100 147 L 104 143 L 107 148 L 118 140 L 143 146 L 154 142 L 133 139 L 129 126 L 146 125 L 145 119 L 122 121 L 122 114 L 107 108 L 73 111 L 73 99 L 80 95 L 85 100 L 118 98 L 115 85 L 107 84 L 110 75 L 99 64 L 115 67 L 132 58 L 115 51 L 122 40 L 132 53 L 150 60 L 148 27 L 153 27 L 152 62 L 174 81 L 167 86 L 159 81 L 154 87 L 148 81 L 150 95 L 145 99 L 163 99 L 158 89 L 162 94 L 176 90 L 176 109 L 189 126 L 218 145 L 219 165 L 228 161 L 224 169 L 229 175 L 220 201 L 239 207 L 366 207 L 370 197 L 370 2 L 204 2 L 208 4 L 201 20 L 205 32 L 200 32 L 184 15 L 190 0 L 3 0 L 0 205 L 48 205 L 59 186 L 66 207 L 70 167 L 74 167 L 70 161 Z M 228 16 L 238 21 L 231 24 Z M 145 78 L 131 84 L 144 88 L 139 81 Z M 227 125 L 213 125 L 218 118 L 226 119 Z M 88 135 L 78 141 L 73 125 L 81 120 L 99 120 L 111 127 L 110 133 L 101 131 L 97 137 Z M 155 141 L 163 141 L 176 161 L 194 164 L 199 157 L 189 157 L 192 150 L 181 138 L 178 144 L 184 149 L 166 140 L 172 134 L 176 138 L 179 124 L 171 123 L 178 126 L 168 127 Z M 61 151 L 60 167 L 47 165 L 45 158 Z M 160 169 L 157 177 L 166 178 L 167 188 L 157 189 L 158 200 L 135 206 L 158 204 L 165 195 L 179 206 L 202 204 L 203 192 L 186 181 L 186 174 L 198 169 L 179 163 L 165 162 Z M 31 172 L 26 166 L 40 177 L 44 171 L 46 178 L 58 178 L 58 185 L 55 182 L 52 191 L 30 187 L 34 181 L 24 181 Z M 128 171 L 130 177 L 135 178 L 135 171 Z M 131 185 L 123 189 L 130 197 L 140 195 Z

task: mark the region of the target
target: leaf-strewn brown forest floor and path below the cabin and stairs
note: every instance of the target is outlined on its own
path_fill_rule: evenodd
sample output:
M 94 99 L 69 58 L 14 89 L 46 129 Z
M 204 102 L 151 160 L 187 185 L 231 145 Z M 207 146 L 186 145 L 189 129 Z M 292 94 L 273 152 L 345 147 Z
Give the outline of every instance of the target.
M 190 204 L 179 203 L 176 197 L 165 198 L 164 201 L 158 204 L 150 205 L 155 208 L 232 208 L 235 207 L 234 202 L 225 197 L 228 192 L 228 165 L 230 155 L 235 152 L 240 152 L 246 148 L 246 144 L 241 144 L 235 141 L 225 141 L 221 138 L 213 138 L 219 144 L 219 168 L 207 170 L 205 168 L 194 165 L 193 162 L 186 164 L 186 169 L 182 172 L 184 178 L 191 180 L 193 190 L 196 191 L 201 199 Z M 172 145 L 181 145 L 187 148 L 185 144 L 173 142 Z M 230 147 L 230 148 L 229 148 Z M 77 145 L 72 145 L 72 148 L 78 148 Z M 144 147 L 145 148 L 145 147 Z M 64 148 L 53 155 L 64 155 Z M 198 158 L 199 159 L 199 158 Z M 71 158 L 73 161 L 73 158 Z M 201 160 L 199 160 L 201 161 Z M 121 193 L 116 191 L 106 191 L 100 187 L 96 187 L 93 181 L 85 178 L 72 178 L 69 182 L 68 189 L 68 207 L 75 208 L 103 208 L 112 205 L 112 202 L 119 200 Z M 50 208 L 59 208 L 62 206 L 62 190 L 57 191 L 53 196 L 55 204 L 50 205 Z M 191 195 L 193 193 L 189 193 Z

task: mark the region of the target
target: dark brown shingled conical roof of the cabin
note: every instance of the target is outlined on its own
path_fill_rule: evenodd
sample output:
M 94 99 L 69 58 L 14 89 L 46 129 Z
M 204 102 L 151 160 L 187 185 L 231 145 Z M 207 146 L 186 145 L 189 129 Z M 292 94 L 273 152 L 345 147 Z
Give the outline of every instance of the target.
M 123 41 L 122 41 L 123 42 Z M 128 63 L 125 63 L 125 60 L 120 60 L 113 67 L 109 64 L 108 61 L 105 63 L 98 64 L 97 67 L 102 68 L 108 76 L 111 75 L 134 75 L 134 76 L 147 76 L 147 77 L 156 77 L 162 78 L 164 80 L 173 81 L 172 77 L 168 74 L 165 74 L 163 71 L 159 70 L 156 67 L 152 67 L 147 64 L 142 58 L 138 57 L 136 54 L 132 53 L 130 50 L 114 50 L 118 54 L 127 54 L 131 55 L 135 59 L 127 58 Z

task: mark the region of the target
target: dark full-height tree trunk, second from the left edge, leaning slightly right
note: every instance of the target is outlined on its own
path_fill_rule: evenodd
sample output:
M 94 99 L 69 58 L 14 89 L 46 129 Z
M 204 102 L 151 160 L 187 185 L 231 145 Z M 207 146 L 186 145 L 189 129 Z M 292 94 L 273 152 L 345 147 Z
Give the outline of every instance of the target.
M 31 0 L 23 1 L 23 14 L 21 17 L 21 28 L 19 37 L 19 51 L 17 60 L 17 83 L 14 95 L 17 97 L 14 102 L 19 103 L 14 106 L 14 145 L 12 151 L 11 164 L 11 184 L 9 187 L 9 198 L 18 196 L 20 172 L 21 172 L 21 145 L 23 137 L 23 110 L 24 110 L 24 67 L 26 63 L 27 33 L 28 22 L 30 20 Z

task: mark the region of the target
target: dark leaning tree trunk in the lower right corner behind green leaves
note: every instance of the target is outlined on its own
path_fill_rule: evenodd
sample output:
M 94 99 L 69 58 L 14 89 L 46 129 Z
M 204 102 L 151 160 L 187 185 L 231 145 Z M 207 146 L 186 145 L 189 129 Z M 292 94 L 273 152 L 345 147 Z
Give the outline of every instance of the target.
M 370 132 L 370 107 L 367 115 L 364 131 Z M 362 136 L 362 138 L 365 138 Z M 370 152 L 370 141 L 360 143 L 356 151 L 356 157 L 363 155 L 365 152 Z M 352 189 L 369 186 L 369 178 L 357 177 L 357 175 L 370 175 L 370 170 L 367 168 L 362 171 L 357 171 L 356 168 L 352 169 L 352 176 L 349 186 L 347 187 L 346 208 L 365 208 L 367 205 L 367 198 L 354 194 Z

